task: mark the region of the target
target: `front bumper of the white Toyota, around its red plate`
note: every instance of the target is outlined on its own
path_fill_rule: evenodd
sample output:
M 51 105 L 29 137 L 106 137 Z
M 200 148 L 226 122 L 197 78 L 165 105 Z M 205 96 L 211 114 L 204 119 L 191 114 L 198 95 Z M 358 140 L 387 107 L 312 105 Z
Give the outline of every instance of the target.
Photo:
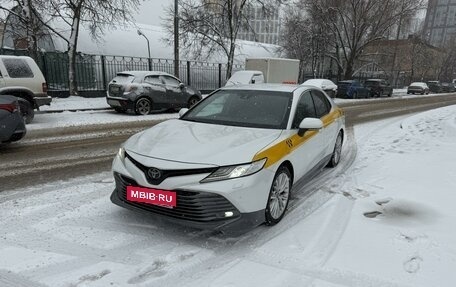
M 149 167 L 166 170 L 169 162 L 135 155 L 135 160 Z M 180 166 L 186 170 L 186 166 Z M 168 166 L 169 169 L 169 166 Z M 191 169 L 187 169 L 191 171 Z M 274 172 L 263 169 L 256 174 L 216 182 L 200 183 L 209 173 L 171 176 L 163 182 L 151 184 L 128 157 L 113 162 L 116 188 L 111 201 L 119 206 L 152 213 L 186 226 L 210 230 L 245 231 L 265 221 L 265 208 Z M 177 205 L 170 209 L 157 205 L 130 202 L 126 187 L 137 186 L 171 190 L 177 194 Z

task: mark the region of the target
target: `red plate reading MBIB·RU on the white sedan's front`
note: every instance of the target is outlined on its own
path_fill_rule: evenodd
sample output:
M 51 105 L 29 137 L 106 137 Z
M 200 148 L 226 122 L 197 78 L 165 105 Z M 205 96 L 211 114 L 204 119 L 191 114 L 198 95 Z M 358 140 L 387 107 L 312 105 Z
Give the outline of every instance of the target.
M 174 191 L 127 186 L 127 200 L 173 208 L 176 207 L 177 196 Z

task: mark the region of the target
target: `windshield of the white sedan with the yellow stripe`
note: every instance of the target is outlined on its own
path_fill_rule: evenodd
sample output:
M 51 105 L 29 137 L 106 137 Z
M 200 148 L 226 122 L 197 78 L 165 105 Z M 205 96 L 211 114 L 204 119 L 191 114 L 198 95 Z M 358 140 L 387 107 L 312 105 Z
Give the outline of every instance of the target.
M 188 111 L 186 121 L 267 129 L 285 129 L 292 93 L 220 90 Z

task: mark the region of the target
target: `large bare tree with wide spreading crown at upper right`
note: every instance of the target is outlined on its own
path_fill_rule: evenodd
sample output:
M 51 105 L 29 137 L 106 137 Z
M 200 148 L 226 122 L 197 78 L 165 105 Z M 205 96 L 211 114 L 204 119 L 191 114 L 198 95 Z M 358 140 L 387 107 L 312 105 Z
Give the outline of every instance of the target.
M 401 25 L 423 7 L 423 0 L 301 0 L 307 17 L 330 31 L 327 56 L 339 66 L 344 78 L 351 78 L 357 60 L 372 42 L 384 39 L 395 25 Z M 331 44 L 332 43 L 332 44 Z

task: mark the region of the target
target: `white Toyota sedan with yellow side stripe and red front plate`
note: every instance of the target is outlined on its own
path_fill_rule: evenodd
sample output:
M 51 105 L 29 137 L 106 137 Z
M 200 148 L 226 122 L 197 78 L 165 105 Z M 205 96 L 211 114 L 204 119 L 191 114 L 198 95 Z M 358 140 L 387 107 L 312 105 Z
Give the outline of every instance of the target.
M 314 86 L 225 87 L 133 135 L 111 201 L 203 229 L 278 223 L 292 186 L 336 166 L 344 112 Z

